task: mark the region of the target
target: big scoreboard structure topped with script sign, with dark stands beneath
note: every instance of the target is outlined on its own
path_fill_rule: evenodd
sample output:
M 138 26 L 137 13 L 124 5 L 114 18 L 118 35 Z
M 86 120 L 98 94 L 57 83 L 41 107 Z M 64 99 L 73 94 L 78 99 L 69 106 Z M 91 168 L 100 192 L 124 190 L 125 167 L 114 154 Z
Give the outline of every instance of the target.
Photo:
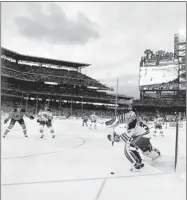
M 180 41 L 179 36 L 175 35 L 174 53 L 158 51 L 153 54 L 151 50 L 145 52 L 153 56 L 141 59 L 140 99 L 133 102 L 133 108 L 139 112 L 160 111 L 165 114 L 180 112 L 180 115 L 185 117 L 186 41 Z

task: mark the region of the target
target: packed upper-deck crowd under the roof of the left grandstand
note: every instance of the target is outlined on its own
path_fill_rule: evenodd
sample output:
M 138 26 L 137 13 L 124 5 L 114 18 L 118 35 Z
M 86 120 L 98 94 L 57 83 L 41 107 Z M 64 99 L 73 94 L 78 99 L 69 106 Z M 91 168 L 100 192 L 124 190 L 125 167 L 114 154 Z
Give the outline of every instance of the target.
M 95 79 L 75 70 L 56 69 L 35 65 L 17 64 L 5 59 L 2 61 L 1 74 L 25 81 L 57 82 L 59 84 L 88 85 L 92 87 L 107 88 Z

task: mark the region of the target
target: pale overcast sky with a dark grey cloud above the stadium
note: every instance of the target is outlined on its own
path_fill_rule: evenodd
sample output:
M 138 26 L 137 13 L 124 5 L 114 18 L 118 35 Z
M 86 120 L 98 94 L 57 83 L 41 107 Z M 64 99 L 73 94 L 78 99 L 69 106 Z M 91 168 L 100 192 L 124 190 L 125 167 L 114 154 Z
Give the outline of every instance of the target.
M 144 50 L 173 51 L 186 29 L 186 4 L 174 2 L 3 2 L 2 46 L 18 53 L 89 63 L 83 73 L 139 97 Z

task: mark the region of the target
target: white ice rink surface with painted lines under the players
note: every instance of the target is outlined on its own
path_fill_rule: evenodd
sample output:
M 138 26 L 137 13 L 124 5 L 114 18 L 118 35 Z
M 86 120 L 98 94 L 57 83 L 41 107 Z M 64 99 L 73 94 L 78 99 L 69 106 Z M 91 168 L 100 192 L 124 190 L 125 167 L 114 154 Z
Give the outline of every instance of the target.
M 2 200 L 185 200 L 186 125 L 179 128 L 178 169 L 174 173 L 175 128 L 152 139 L 163 156 L 130 172 L 124 143 L 106 139 L 112 129 L 81 126 L 81 120 L 56 120 L 56 138 L 40 139 L 36 120 L 26 119 L 28 138 L 17 124 L 2 139 Z M 2 123 L 2 133 L 5 125 Z M 118 128 L 118 132 L 122 127 Z M 111 174 L 113 172 L 114 174 Z

